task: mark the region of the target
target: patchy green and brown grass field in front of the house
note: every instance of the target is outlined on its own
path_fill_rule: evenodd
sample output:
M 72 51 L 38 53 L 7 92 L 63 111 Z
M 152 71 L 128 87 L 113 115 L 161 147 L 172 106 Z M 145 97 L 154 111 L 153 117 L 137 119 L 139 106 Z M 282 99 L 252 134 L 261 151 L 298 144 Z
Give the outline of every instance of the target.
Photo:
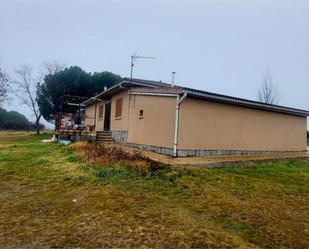
M 0 133 L 0 248 L 309 248 L 309 161 L 146 176 Z

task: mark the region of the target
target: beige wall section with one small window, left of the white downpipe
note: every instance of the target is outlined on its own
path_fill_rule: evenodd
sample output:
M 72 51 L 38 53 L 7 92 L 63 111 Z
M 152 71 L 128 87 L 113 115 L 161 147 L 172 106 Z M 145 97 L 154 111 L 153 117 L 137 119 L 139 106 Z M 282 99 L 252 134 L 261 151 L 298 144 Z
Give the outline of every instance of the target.
M 128 142 L 173 147 L 175 97 L 131 96 Z M 139 118 L 139 110 L 144 118 Z

